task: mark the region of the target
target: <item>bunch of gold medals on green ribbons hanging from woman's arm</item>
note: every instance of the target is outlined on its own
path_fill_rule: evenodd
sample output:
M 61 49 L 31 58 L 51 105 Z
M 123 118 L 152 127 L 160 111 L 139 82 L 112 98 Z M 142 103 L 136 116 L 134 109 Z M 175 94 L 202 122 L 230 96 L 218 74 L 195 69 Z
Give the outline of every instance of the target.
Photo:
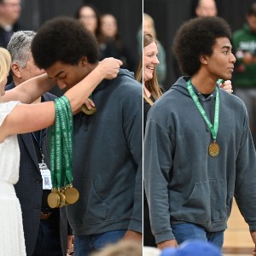
M 66 96 L 55 99 L 55 125 L 50 128 L 50 170 L 53 189 L 48 195 L 51 208 L 65 207 L 79 200 L 72 185 L 73 114 Z

